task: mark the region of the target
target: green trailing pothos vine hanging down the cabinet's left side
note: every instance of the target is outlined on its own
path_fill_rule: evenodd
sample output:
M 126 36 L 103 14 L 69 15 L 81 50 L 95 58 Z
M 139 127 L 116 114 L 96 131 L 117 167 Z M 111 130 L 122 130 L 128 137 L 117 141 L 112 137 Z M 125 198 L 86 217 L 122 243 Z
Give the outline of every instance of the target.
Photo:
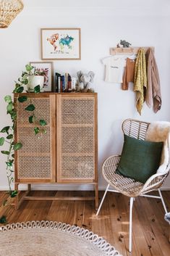
M 25 107 L 25 111 L 29 112 L 30 115 L 28 117 L 28 122 L 33 124 L 33 131 L 35 134 L 38 133 L 46 133 L 46 120 L 38 119 L 35 115 L 35 104 L 33 104 L 32 100 L 29 99 L 26 95 L 21 95 L 24 91 L 24 86 L 27 85 L 28 75 L 42 75 L 42 73 L 37 73 L 35 71 L 35 67 L 31 65 L 26 65 L 26 71 L 22 72 L 22 75 L 20 78 L 18 78 L 17 82 L 15 82 L 15 88 L 13 93 L 19 94 L 17 96 L 17 101 L 20 103 L 27 102 L 27 106 Z M 34 73 L 33 73 L 34 70 Z M 29 90 L 27 91 L 29 92 Z M 35 86 L 34 91 L 35 94 L 38 94 L 41 92 L 40 86 Z M 0 136 L 0 146 L 5 146 L 4 150 L 1 150 L 1 154 L 4 154 L 7 156 L 6 158 L 6 173 L 7 173 L 7 181 L 9 185 L 9 196 L 10 197 L 16 197 L 18 191 L 12 190 L 12 183 L 14 181 L 13 173 L 14 173 L 14 151 L 17 151 L 22 148 L 21 141 L 14 141 L 14 132 L 16 128 L 16 122 L 17 122 L 17 110 L 14 106 L 14 100 L 12 99 L 12 96 L 7 95 L 4 97 L 5 102 L 7 103 L 7 115 L 10 115 L 12 124 L 9 126 L 5 126 L 1 129 L 0 133 L 4 133 L 3 136 Z M 4 201 L 3 205 L 7 204 L 7 200 Z M 6 223 L 7 220 L 5 216 L 3 215 L 0 218 L 0 223 Z

